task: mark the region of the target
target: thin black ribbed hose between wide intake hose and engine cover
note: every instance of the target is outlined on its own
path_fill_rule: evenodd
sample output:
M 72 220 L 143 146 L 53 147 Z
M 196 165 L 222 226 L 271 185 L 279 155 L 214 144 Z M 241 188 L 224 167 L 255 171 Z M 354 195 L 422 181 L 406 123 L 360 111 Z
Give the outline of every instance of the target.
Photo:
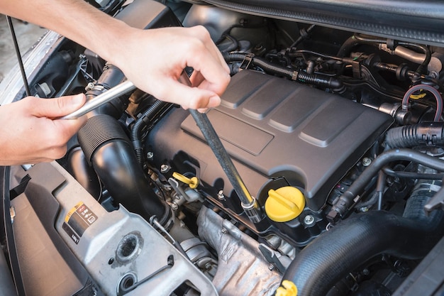
M 133 143 L 135 157 L 138 160 L 140 165 L 143 164 L 143 143 L 141 141 L 143 128 L 148 124 L 150 119 L 152 119 L 155 114 L 157 114 L 160 110 L 162 110 L 165 106 L 170 103 L 165 103 L 159 100 L 156 100 L 150 108 L 148 108 L 145 112 L 143 112 L 142 116 L 135 121 L 133 129 L 131 130 L 131 143 Z

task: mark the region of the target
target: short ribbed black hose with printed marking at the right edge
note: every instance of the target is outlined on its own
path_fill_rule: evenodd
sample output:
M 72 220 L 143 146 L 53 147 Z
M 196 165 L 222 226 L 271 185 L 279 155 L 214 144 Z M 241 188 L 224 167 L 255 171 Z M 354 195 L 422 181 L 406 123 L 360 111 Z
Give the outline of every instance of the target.
M 444 146 L 444 122 L 421 122 L 387 131 L 385 142 L 390 148 Z

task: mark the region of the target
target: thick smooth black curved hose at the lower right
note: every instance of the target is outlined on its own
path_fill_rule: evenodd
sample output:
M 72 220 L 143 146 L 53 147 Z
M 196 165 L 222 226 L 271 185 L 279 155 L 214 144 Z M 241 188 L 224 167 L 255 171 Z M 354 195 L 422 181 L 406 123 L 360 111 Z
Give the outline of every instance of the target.
M 379 254 L 422 258 L 443 235 L 444 212 L 426 216 L 423 210 L 433 193 L 418 190 L 412 194 L 403 216 L 374 211 L 342 221 L 306 246 L 290 263 L 283 280 L 291 280 L 299 296 L 321 296 Z

